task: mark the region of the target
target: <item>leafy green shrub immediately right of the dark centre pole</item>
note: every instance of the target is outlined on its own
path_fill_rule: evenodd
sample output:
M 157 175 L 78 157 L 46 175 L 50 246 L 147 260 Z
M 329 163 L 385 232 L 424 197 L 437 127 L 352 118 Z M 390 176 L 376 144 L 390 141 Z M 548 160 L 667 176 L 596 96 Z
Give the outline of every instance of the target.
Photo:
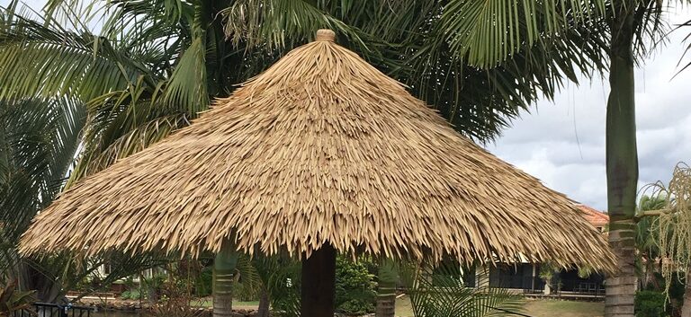
M 362 315 L 374 311 L 376 283 L 366 260 L 339 255 L 336 261 L 336 308 L 340 313 Z

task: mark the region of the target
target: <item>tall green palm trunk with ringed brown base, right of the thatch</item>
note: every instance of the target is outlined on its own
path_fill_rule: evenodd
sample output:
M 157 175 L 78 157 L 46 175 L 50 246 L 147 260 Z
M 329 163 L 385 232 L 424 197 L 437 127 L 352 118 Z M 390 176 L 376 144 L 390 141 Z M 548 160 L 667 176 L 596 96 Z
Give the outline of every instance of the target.
M 636 292 L 634 271 L 634 221 L 638 154 L 633 82 L 633 32 L 636 5 L 631 0 L 615 4 L 611 21 L 609 84 L 606 119 L 607 207 L 609 244 L 620 271 L 606 281 L 606 317 L 633 316 Z

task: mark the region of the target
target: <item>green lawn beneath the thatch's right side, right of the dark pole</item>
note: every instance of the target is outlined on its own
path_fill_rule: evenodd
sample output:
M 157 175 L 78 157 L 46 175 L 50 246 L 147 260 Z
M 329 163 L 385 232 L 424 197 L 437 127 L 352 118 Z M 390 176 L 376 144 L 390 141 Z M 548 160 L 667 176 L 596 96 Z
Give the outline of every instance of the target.
M 526 299 L 524 311 L 532 317 L 597 317 L 605 313 L 604 303 Z M 396 316 L 413 317 L 413 309 L 407 296 L 396 300 Z

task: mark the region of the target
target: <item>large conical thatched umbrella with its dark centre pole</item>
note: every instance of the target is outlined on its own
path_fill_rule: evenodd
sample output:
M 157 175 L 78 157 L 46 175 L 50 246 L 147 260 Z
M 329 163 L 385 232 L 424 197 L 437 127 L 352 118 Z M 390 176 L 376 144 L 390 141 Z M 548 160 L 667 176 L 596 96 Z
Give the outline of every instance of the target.
M 190 127 L 67 190 L 21 245 L 111 249 L 287 251 L 303 260 L 303 316 L 333 313 L 337 251 L 613 263 L 567 198 L 454 132 L 326 30 Z

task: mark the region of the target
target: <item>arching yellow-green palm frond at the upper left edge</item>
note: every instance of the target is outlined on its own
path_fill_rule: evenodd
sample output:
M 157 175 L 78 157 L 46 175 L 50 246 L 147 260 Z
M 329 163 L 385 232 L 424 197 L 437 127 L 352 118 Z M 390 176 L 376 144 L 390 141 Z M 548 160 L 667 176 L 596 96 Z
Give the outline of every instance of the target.
M 89 101 L 150 75 L 147 66 L 113 44 L 15 15 L 0 32 L 0 98 L 67 94 Z

